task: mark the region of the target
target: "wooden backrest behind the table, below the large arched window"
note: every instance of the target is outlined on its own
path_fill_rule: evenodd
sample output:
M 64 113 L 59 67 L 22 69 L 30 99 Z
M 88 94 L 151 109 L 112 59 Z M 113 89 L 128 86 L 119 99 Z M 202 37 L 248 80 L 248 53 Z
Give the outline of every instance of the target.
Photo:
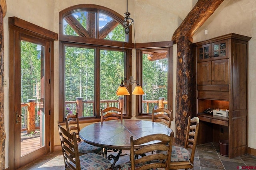
M 120 114 L 119 114 L 120 112 Z M 107 107 L 106 109 L 101 109 L 100 111 L 101 121 L 108 120 L 123 120 L 123 109 L 117 107 Z

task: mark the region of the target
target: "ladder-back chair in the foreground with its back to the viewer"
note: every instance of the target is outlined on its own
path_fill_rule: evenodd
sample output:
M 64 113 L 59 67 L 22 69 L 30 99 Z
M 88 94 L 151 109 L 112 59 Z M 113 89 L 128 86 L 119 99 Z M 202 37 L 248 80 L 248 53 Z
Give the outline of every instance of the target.
M 122 170 L 169 170 L 172 152 L 172 141 L 174 133 L 170 135 L 152 134 L 134 140 L 130 137 L 130 161 L 121 165 Z M 152 143 L 152 141 L 159 143 Z M 166 145 L 168 143 L 168 145 Z M 138 148 L 138 145 L 145 145 Z M 161 150 L 165 152 L 149 154 L 152 150 Z M 135 155 L 144 155 L 135 158 Z

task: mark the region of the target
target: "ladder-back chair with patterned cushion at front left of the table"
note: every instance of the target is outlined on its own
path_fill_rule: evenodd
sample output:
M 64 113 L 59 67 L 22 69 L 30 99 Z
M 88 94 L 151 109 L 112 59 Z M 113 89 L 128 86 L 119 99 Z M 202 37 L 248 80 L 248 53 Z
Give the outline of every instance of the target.
M 58 125 L 60 143 L 64 158 L 65 169 L 69 170 L 106 170 L 111 167 L 111 162 L 96 153 L 87 153 L 79 156 L 76 133 L 70 134 Z M 70 139 L 74 142 L 71 142 Z

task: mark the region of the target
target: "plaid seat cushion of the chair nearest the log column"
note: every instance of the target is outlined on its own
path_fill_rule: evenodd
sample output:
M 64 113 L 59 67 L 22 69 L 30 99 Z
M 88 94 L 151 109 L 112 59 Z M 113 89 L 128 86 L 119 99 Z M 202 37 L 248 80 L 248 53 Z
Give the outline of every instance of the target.
M 172 146 L 171 162 L 188 161 L 190 159 L 190 152 L 182 147 Z

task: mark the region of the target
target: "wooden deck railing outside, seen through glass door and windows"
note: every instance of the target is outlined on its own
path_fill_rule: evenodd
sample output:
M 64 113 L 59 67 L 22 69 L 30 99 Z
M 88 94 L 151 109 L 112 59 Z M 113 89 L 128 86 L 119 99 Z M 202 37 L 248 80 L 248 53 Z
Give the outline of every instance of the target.
M 143 113 L 152 113 L 152 109 L 155 108 L 167 108 L 167 100 L 159 98 L 158 100 L 143 100 L 142 111 Z M 76 98 L 76 101 L 66 101 L 66 114 L 78 113 L 79 117 L 94 116 L 94 101 L 83 100 L 83 98 Z M 124 107 L 124 98 L 119 97 L 118 100 L 101 100 L 100 108 L 106 107 Z M 36 129 L 40 129 L 40 108 L 36 107 L 36 100 L 30 99 L 27 103 L 21 103 L 21 131 L 27 131 L 27 133 L 35 132 Z

